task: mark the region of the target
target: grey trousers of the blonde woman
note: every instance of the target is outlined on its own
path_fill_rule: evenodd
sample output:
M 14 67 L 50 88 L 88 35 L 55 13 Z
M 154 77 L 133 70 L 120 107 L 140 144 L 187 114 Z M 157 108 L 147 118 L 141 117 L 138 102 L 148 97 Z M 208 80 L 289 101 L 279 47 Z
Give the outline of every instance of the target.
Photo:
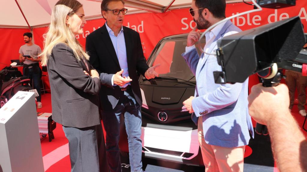
M 63 130 L 68 139 L 71 172 L 109 171 L 101 125 L 86 128 L 63 126 Z

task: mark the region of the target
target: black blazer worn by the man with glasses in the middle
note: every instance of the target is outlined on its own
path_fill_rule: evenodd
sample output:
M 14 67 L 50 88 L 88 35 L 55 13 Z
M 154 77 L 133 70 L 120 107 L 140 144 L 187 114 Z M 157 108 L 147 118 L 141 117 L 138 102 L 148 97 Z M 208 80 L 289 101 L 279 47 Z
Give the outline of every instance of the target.
M 123 33 L 126 44 L 128 73 L 132 79 L 130 82 L 131 88 L 136 101 L 139 105 L 142 105 L 142 95 L 136 72 L 138 71 L 144 76 L 149 67 L 146 64 L 138 32 L 123 26 Z M 101 107 L 103 110 L 112 110 L 118 103 L 122 91 L 119 86 L 111 84 L 111 78 L 113 74 L 121 69 L 106 24 L 86 37 L 85 48 L 90 55 L 91 65 L 100 73 L 102 84 L 99 93 Z

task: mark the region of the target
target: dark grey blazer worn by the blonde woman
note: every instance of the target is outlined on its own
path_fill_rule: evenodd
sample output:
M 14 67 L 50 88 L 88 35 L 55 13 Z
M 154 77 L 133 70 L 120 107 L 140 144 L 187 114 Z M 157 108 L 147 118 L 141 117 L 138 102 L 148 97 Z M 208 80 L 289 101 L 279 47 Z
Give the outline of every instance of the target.
M 87 68 L 83 61 L 76 60 L 72 49 L 64 43 L 54 46 L 47 68 L 52 119 L 64 126 L 76 128 L 100 124 L 100 80 L 85 75 L 83 71 L 87 71 Z

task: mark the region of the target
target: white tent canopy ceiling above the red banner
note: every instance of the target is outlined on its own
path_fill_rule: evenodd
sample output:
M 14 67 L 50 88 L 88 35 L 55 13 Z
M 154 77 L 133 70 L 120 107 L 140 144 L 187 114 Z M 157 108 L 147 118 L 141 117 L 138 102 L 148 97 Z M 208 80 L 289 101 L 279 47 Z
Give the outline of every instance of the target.
M 0 28 L 37 28 L 50 23 L 51 11 L 58 0 L 1 0 Z M 87 20 L 101 18 L 102 0 L 78 0 L 83 4 Z M 127 14 L 164 13 L 167 10 L 187 8 L 192 0 L 125 0 Z M 226 0 L 227 3 L 242 0 Z

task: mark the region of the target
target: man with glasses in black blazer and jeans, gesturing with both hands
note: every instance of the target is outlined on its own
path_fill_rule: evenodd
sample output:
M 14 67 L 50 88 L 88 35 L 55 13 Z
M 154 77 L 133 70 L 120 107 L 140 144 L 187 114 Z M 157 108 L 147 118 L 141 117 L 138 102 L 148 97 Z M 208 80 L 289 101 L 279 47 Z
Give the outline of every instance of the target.
M 86 51 L 100 73 L 100 106 L 110 170 L 121 171 L 119 123 L 120 115 L 124 115 L 131 171 L 142 172 L 142 95 L 136 71 L 147 79 L 158 75 L 154 71 L 157 66 L 149 68 L 146 64 L 138 32 L 122 26 L 126 12 L 123 0 L 103 0 L 101 13 L 107 22 L 87 36 Z

